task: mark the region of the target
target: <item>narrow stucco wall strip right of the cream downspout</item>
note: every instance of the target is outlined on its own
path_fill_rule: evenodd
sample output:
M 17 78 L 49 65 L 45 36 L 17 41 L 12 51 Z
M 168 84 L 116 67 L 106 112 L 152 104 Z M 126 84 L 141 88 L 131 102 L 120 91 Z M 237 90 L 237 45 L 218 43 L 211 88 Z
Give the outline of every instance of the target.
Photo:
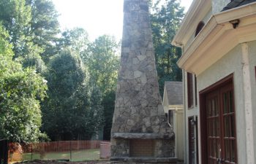
M 255 66 L 256 66 L 256 41 L 249 42 L 249 65 L 250 65 L 250 77 L 252 85 L 252 114 L 253 118 L 256 118 L 256 77 L 255 77 Z M 255 140 L 255 150 L 256 150 L 256 119 L 253 120 L 254 125 L 254 140 Z M 255 161 L 256 161 L 256 151 L 255 151 Z

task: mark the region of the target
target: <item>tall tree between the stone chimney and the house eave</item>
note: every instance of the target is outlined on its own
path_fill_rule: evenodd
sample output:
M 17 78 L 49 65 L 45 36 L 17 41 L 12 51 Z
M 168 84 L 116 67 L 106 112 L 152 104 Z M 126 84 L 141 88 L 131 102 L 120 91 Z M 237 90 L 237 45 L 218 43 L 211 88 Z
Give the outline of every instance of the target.
M 162 95 L 165 81 L 182 80 L 181 69 L 176 64 L 181 56 L 181 49 L 174 47 L 170 42 L 184 17 L 184 7 L 176 0 L 166 0 L 163 4 L 161 2 L 162 0 L 157 0 L 151 6 L 151 28 L 159 90 Z

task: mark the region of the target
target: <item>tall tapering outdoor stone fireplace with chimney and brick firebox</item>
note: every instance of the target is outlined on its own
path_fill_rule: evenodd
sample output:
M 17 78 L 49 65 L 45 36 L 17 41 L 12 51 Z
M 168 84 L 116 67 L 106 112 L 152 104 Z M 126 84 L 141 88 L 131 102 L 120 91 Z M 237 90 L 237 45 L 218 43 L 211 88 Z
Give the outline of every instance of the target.
M 148 0 L 124 0 L 111 163 L 176 163 L 174 133 L 159 95 Z

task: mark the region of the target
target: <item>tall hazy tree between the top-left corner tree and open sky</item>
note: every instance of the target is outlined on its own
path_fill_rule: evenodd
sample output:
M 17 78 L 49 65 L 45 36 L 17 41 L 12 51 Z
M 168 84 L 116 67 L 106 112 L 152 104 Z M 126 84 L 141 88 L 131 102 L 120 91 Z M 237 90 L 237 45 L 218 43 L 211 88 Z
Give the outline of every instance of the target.
M 26 0 L 31 8 L 31 30 L 29 35 L 32 42 L 42 48 L 42 59 L 48 62 L 50 56 L 57 53 L 56 44 L 59 42 L 59 14 L 51 0 Z

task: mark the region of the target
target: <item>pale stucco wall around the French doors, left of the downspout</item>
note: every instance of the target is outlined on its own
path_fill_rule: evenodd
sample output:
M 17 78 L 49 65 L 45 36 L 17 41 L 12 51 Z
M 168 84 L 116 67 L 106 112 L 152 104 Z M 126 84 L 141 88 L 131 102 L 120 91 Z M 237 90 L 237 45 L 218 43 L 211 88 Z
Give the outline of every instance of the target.
M 228 52 L 227 55 L 218 60 L 216 63 L 214 63 L 214 65 L 210 66 L 206 71 L 203 71 L 203 73 L 197 77 L 197 90 L 203 90 L 206 87 L 213 85 L 215 82 L 227 77 L 229 74 L 233 74 L 234 78 L 238 163 L 244 163 L 244 161 L 246 161 L 246 136 L 244 122 L 241 45 L 238 45 L 233 50 Z M 199 95 L 197 95 L 197 97 L 199 97 Z

